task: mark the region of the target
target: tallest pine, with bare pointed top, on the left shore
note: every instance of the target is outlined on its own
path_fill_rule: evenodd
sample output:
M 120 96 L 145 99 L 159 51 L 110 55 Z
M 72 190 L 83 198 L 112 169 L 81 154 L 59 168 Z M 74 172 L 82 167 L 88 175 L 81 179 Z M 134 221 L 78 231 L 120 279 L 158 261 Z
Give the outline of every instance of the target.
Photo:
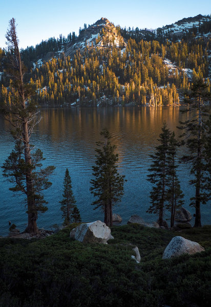
M 11 152 L 3 165 L 3 174 L 14 183 L 12 191 L 20 191 L 26 194 L 28 226 L 25 232 L 36 234 L 38 211 L 45 212 L 46 202 L 40 194 L 41 190 L 48 188 L 51 183 L 47 180 L 54 166 L 41 169 L 40 161 L 44 160 L 41 150 L 32 154 L 33 146 L 30 137 L 36 125 L 38 109 L 32 102 L 34 94 L 32 84 L 24 83 L 23 62 L 18 48 L 15 19 L 9 22 L 6 34 L 8 54 L 6 72 L 11 78 L 9 91 L 12 93 L 11 101 L 6 101 L 1 109 L 5 119 L 11 124 L 11 134 L 15 139 L 15 149 Z M 36 168 L 40 168 L 39 171 Z

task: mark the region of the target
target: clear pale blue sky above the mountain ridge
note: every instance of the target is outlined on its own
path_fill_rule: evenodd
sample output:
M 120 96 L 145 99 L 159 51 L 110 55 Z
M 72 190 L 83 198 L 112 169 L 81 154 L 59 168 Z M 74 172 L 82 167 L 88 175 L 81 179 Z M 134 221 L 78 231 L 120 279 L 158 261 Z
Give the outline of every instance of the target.
M 9 20 L 17 23 L 19 47 L 35 46 L 42 39 L 59 37 L 86 23 L 106 17 L 121 27 L 156 29 L 184 17 L 211 13 L 210 0 L 0 0 L 0 47 L 5 47 Z

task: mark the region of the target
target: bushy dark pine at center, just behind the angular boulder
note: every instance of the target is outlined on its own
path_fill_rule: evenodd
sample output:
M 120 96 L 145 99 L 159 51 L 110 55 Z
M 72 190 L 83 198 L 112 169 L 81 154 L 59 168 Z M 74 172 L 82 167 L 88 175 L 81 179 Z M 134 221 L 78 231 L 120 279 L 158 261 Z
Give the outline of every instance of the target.
M 100 135 L 104 142 L 96 142 L 99 148 L 95 149 L 97 155 L 95 166 L 92 167 L 95 179 L 90 181 L 90 190 L 97 197 L 92 203 L 95 205 L 94 209 L 101 207 L 104 211 L 104 223 L 112 226 L 112 207 L 122 198 L 125 179 L 117 171 L 118 154 L 114 152 L 116 146 L 111 144 L 111 134 L 104 128 Z

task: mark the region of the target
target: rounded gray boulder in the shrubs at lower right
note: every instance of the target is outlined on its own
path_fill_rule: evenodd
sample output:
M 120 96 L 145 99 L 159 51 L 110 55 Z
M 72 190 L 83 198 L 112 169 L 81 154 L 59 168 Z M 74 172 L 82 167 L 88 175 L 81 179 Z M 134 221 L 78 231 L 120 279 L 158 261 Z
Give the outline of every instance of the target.
M 163 259 L 178 257 L 182 254 L 193 255 L 203 251 L 204 248 L 197 242 L 187 240 L 181 236 L 176 236 L 164 250 Z

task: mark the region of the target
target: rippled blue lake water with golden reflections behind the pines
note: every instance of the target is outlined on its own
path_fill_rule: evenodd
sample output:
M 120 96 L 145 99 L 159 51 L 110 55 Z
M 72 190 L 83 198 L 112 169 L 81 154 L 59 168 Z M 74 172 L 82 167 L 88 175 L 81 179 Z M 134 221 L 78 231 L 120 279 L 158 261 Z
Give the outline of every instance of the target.
M 42 120 L 35 127 L 31 142 L 35 148 L 44 151 L 44 166 L 54 165 L 56 169 L 51 176 L 51 188 L 45 191 L 45 199 L 49 202 L 49 210 L 38 215 L 37 224 L 40 228 L 50 229 L 53 224 L 62 224 L 59 201 L 62 199 L 62 183 L 66 168 L 69 169 L 72 179 L 73 193 L 80 210 L 83 222 L 96 220 L 103 221 L 103 213 L 93 210 L 91 203 L 93 196 L 90 193 L 92 166 L 95 161 L 96 141 L 100 140 L 100 131 L 107 127 L 113 143 L 119 153 L 119 172 L 128 180 L 124 186 L 124 196 L 113 212 L 122 216 L 122 224 L 126 224 L 132 214 L 138 214 L 146 222 L 156 221 L 155 214 L 145 211 L 150 206 L 151 184 L 146 180 L 147 168 L 152 159 L 149 154 L 158 145 L 163 122 L 168 128 L 175 130 L 179 120 L 187 115 L 179 112 L 179 107 L 138 107 L 138 108 L 58 108 L 41 109 Z M 9 134 L 9 125 L 0 119 L 0 165 L 4 163 L 14 147 Z M 181 148 L 179 155 L 184 152 Z M 194 190 L 188 185 L 189 170 L 180 165 L 178 170 L 181 188 L 185 194 L 185 205 L 189 207 L 189 198 Z M 0 235 L 7 235 L 8 221 L 16 224 L 21 231 L 25 229 L 27 214 L 25 213 L 24 195 L 9 191 L 10 183 L 6 182 L 0 170 Z M 210 203 L 202 205 L 202 224 L 211 224 Z M 165 212 L 168 218 L 168 212 Z M 193 223 L 194 221 L 192 221 Z

